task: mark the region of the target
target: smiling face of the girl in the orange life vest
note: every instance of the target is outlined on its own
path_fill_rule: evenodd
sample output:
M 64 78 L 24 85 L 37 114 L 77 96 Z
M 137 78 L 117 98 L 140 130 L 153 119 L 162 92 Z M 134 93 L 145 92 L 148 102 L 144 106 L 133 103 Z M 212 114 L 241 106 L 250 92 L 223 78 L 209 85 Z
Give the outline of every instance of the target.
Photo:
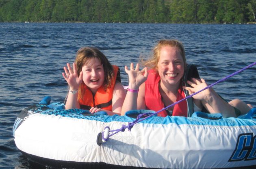
M 104 83 L 105 74 L 103 65 L 98 58 L 92 58 L 82 66 L 82 72 L 83 82 L 95 94 Z

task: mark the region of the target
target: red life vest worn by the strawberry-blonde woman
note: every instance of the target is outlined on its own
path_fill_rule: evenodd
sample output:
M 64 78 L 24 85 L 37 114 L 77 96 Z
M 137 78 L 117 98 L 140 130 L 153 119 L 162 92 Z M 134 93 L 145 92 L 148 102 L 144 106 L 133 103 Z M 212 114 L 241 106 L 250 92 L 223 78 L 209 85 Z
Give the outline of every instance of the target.
M 148 79 L 145 81 L 145 105 L 146 109 L 159 111 L 166 106 L 163 103 L 163 98 L 159 92 L 159 82 L 160 76 L 154 70 L 149 70 Z M 178 89 L 177 100 L 185 98 L 185 93 L 182 89 L 182 83 L 180 83 L 180 87 Z M 168 106 L 168 105 L 167 105 Z M 169 115 L 167 110 L 161 111 L 158 113 L 158 116 L 166 117 Z M 188 115 L 188 108 L 186 100 L 174 105 L 174 110 L 172 112 L 173 116 L 184 116 L 187 117 Z

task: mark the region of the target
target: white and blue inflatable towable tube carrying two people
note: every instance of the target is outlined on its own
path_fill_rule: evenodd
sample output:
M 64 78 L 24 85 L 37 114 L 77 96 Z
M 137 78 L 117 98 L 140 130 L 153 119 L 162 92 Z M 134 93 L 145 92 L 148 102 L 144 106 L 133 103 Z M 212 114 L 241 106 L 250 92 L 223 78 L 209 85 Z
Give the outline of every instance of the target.
M 49 100 L 41 103 L 48 105 L 24 108 L 13 126 L 17 148 L 37 159 L 132 168 L 256 167 L 256 108 L 238 118 L 202 112 L 192 117 L 153 116 L 99 146 L 97 136 L 105 127 L 120 129 L 145 111 L 91 115 L 64 110 L 64 104 Z

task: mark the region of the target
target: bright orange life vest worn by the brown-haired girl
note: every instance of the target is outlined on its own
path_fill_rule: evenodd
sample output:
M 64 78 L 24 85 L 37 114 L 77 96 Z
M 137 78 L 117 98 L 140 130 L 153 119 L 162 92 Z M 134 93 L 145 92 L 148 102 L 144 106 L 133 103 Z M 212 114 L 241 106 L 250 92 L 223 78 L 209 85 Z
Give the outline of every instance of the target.
M 96 91 L 94 97 L 91 90 L 82 83 L 83 91 L 85 94 L 82 99 L 78 100 L 80 108 L 89 110 L 91 107 L 102 108 L 104 110 L 112 111 L 112 98 L 115 82 L 117 79 L 117 73 L 119 68 L 113 65 L 114 77 L 111 80 L 111 87 L 104 89 L 103 85 Z

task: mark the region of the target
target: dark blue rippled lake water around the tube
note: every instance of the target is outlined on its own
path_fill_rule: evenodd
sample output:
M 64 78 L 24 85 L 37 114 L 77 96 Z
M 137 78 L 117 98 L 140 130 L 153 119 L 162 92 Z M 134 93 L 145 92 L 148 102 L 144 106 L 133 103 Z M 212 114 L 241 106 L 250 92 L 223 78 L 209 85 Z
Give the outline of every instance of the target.
M 121 69 L 148 56 L 159 39 L 183 42 L 187 62 L 211 84 L 256 61 L 256 25 L 0 23 L 0 168 L 33 168 L 13 141 L 12 127 L 22 108 L 44 96 L 63 102 L 61 73 L 83 46 L 95 46 Z M 226 100 L 256 107 L 256 66 L 214 87 Z M 46 166 L 45 168 L 49 168 Z

